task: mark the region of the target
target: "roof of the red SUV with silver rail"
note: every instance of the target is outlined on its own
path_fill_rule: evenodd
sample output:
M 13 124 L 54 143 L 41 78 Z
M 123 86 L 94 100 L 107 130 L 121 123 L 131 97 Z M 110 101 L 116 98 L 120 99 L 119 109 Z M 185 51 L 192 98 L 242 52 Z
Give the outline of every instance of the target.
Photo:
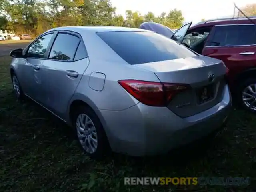
M 251 20 L 253 20 L 254 23 L 256 23 L 256 16 L 249 17 Z M 228 25 L 228 24 L 252 24 L 252 21 L 250 21 L 246 17 L 234 17 L 234 18 L 220 18 L 220 19 L 210 19 L 205 20 L 202 22 L 199 22 L 192 26 L 190 29 L 203 27 L 203 26 L 213 26 L 213 25 Z

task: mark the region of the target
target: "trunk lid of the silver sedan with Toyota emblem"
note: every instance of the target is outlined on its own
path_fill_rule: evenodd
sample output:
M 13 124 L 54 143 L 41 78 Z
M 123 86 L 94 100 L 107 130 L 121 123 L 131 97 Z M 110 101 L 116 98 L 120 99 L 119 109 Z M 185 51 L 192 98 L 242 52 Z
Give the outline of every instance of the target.
M 168 104 L 178 116 L 192 116 L 222 100 L 226 66 L 221 60 L 196 56 L 138 64 L 136 67 L 154 72 L 162 83 L 190 85 L 190 89 L 180 92 Z

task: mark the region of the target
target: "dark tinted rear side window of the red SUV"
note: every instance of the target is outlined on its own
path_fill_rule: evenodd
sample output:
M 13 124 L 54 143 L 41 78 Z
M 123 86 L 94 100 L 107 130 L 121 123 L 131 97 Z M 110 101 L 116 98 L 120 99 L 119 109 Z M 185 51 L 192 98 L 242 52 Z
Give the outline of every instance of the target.
M 239 46 L 256 44 L 255 25 L 216 26 L 207 46 Z

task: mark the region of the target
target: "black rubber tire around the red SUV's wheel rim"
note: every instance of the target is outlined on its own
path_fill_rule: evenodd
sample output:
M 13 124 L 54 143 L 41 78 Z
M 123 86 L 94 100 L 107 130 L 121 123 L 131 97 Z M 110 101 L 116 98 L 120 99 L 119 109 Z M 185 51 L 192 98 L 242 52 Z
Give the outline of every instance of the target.
M 238 87 L 238 92 L 236 94 L 236 101 L 239 104 L 240 107 L 242 107 L 243 109 L 252 112 L 252 113 L 256 113 L 256 109 L 252 109 L 249 106 L 247 106 L 244 101 L 243 101 L 243 91 L 245 90 L 245 88 L 251 84 L 256 84 L 256 78 L 248 78 L 244 81 L 241 82 L 241 84 Z M 256 91 L 256 90 L 254 90 Z M 256 94 L 254 95 L 254 99 L 256 99 Z M 256 103 L 254 104 L 254 106 L 256 107 Z

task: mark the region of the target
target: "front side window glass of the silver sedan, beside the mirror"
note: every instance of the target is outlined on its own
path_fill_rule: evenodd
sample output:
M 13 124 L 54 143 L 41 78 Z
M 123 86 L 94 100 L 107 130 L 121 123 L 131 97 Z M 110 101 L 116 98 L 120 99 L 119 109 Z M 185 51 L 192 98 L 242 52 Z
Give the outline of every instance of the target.
M 27 52 L 28 57 L 44 58 L 46 49 L 52 39 L 53 33 L 44 35 L 36 40 L 29 48 Z

